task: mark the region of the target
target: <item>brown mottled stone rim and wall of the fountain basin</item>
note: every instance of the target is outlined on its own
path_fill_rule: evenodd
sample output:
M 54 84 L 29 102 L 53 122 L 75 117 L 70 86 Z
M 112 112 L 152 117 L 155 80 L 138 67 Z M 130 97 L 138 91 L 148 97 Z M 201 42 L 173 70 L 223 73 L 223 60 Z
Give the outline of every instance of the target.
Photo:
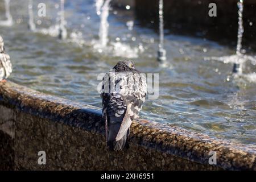
M 0 83 L 0 135 L 0 159 L 9 155 L 0 169 L 256 170 L 253 145 L 145 120 L 133 122 L 129 149 L 110 152 L 100 108 L 12 82 Z M 42 166 L 41 150 L 47 155 Z M 216 165 L 208 164 L 209 151 L 217 152 Z

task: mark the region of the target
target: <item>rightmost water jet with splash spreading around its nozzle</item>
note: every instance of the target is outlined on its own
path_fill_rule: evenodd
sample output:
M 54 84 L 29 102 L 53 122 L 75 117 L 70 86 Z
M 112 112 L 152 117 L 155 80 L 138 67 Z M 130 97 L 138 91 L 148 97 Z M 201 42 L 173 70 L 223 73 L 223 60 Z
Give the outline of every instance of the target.
M 233 73 L 237 73 L 238 75 L 241 75 L 243 64 L 246 61 L 250 61 L 251 64 L 255 65 L 256 56 L 245 55 L 241 52 L 242 37 L 243 37 L 243 31 L 244 31 L 244 29 L 243 29 L 243 0 L 238 1 L 237 7 L 238 7 L 238 33 L 237 33 L 236 55 L 222 56 L 222 57 L 205 57 L 204 60 L 222 61 L 225 64 L 233 63 Z

